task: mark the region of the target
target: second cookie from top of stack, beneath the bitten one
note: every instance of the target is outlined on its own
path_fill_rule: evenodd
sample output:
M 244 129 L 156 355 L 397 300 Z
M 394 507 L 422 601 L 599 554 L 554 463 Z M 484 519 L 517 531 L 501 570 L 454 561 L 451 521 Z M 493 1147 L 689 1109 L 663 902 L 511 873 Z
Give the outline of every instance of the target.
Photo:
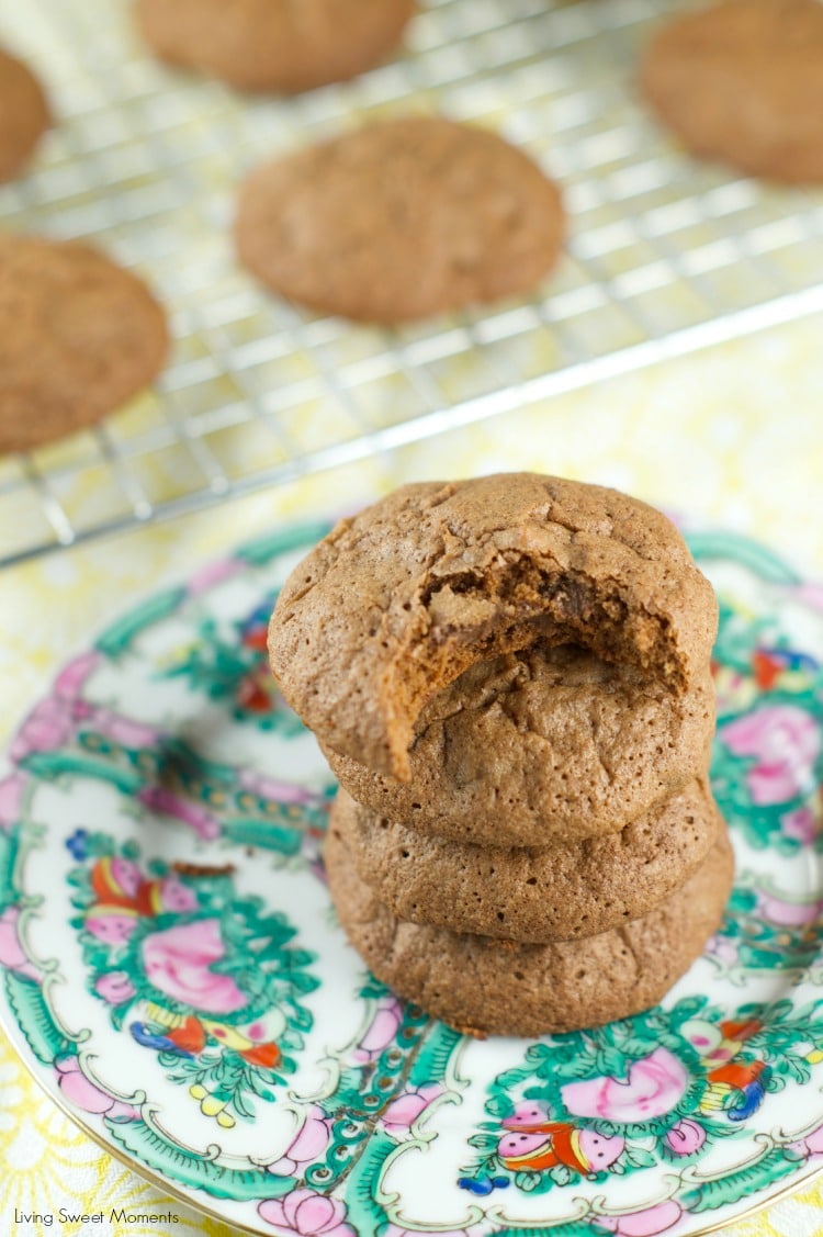
M 708 667 L 676 695 L 631 666 L 538 642 L 475 662 L 423 706 L 407 782 L 321 745 L 354 798 L 390 820 L 547 846 L 614 833 L 704 773 L 714 715 Z

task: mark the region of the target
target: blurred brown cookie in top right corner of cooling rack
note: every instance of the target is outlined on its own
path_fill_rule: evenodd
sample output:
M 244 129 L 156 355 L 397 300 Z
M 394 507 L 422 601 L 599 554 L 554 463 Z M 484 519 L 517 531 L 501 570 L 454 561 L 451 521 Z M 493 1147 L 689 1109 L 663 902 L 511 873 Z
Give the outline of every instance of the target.
M 726 0 L 651 41 L 642 89 L 698 155 L 788 182 L 823 181 L 823 5 Z

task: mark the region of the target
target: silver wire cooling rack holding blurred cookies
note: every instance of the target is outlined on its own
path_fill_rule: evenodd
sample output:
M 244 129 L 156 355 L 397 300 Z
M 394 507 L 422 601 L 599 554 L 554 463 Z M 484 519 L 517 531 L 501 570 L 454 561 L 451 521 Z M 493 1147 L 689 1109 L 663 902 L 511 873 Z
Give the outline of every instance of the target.
M 125 0 L 0 0 L 0 41 L 59 124 L 0 226 L 94 239 L 168 308 L 157 388 L 0 460 L 0 565 L 205 507 L 823 309 L 823 194 L 697 165 L 636 98 L 671 0 L 427 0 L 353 83 L 244 98 L 157 64 Z M 257 161 L 375 116 L 498 129 L 564 188 L 567 255 L 533 299 L 400 330 L 302 312 L 238 268 Z

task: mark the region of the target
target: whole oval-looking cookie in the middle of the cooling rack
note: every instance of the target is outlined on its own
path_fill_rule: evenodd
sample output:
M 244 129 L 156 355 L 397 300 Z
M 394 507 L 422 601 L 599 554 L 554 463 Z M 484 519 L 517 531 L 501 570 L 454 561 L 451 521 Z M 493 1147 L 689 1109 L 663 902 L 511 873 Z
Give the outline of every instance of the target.
M 240 261 L 323 313 L 397 323 L 525 292 L 562 242 L 559 193 L 501 137 L 442 119 L 369 125 L 252 172 Z

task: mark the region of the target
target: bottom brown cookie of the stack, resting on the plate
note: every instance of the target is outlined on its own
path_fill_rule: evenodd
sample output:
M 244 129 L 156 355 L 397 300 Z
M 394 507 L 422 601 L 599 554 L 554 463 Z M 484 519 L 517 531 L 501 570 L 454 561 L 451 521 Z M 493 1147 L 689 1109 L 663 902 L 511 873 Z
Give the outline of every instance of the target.
M 397 919 L 360 880 L 334 833 L 325 866 L 340 924 L 379 980 L 459 1030 L 532 1037 L 595 1027 L 656 1004 L 720 923 L 734 858 L 724 829 L 689 881 L 642 919 L 552 945 Z

